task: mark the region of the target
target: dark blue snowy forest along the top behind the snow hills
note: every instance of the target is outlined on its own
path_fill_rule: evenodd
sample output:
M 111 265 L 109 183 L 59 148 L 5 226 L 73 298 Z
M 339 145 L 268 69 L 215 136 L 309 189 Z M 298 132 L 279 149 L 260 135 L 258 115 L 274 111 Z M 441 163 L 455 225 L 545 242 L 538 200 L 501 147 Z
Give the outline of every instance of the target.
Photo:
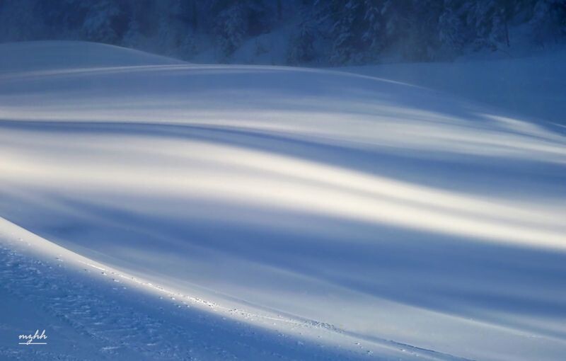
M 88 40 L 229 61 L 246 41 L 278 63 L 450 59 L 566 36 L 566 0 L 0 0 L 0 40 Z M 280 37 L 278 39 L 281 39 Z M 259 53 L 265 45 L 258 42 Z

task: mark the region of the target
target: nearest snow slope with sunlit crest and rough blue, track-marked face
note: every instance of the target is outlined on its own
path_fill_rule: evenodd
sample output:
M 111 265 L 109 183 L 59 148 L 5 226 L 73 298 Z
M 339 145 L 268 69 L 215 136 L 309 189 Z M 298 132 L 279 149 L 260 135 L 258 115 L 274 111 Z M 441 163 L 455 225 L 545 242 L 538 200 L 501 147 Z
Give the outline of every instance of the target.
M 0 219 L 0 358 L 7 360 L 461 360 L 328 324 L 216 304 L 134 277 Z M 47 331 L 47 345 L 18 335 Z M 35 341 L 37 342 L 37 340 Z

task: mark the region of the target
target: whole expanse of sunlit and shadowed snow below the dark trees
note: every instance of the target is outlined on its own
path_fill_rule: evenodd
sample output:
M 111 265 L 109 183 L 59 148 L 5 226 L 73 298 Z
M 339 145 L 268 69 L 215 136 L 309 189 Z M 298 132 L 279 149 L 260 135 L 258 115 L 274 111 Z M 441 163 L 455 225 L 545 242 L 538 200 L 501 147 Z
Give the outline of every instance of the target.
M 0 57 L 2 360 L 564 359 L 560 125 L 339 71 Z

